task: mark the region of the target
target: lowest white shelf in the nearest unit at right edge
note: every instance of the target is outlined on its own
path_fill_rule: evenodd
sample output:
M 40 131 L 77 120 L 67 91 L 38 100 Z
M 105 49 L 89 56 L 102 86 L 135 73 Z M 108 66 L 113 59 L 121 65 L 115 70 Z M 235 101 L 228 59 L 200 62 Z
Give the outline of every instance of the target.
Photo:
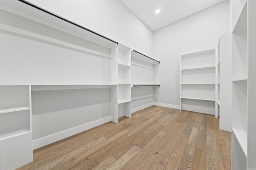
M 236 136 L 236 139 L 241 146 L 244 155 L 247 157 L 247 132 L 239 129 L 232 128 L 234 135 Z

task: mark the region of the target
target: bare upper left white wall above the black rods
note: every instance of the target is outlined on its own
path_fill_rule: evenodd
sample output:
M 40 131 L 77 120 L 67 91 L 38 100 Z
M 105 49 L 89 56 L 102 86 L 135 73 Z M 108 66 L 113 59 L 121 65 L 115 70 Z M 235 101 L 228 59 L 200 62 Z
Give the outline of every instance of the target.
M 50 12 L 152 56 L 152 31 L 120 0 L 28 0 Z

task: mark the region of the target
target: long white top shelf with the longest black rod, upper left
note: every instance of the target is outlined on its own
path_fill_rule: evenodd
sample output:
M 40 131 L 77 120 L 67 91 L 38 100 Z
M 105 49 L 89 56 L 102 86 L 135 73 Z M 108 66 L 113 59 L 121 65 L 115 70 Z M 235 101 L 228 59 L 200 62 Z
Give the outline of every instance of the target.
M 58 16 L 57 14 L 36 6 L 26 0 L 2 0 L 0 4 L 0 8 L 4 10 L 8 9 L 8 12 L 98 43 L 105 47 L 112 47 L 114 44 L 118 44 L 117 41 L 87 29 L 78 23 L 63 18 L 62 16 Z

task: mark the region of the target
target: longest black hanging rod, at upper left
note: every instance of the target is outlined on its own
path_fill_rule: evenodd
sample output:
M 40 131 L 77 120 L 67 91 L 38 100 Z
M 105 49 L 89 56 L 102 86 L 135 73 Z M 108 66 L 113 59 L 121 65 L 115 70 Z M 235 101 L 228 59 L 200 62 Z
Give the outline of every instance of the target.
M 18 1 L 23 2 L 24 4 L 27 4 L 27 5 L 29 5 L 29 6 L 32 6 L 32 7 L 36 8 L 36 9 L 42 11 L 42 12 L 45 12 L 45 13 L 47 13 L 47 14 L 50 14 L 51 16 L 54 16 L 54 17 L 56 17 L 56 18 L 59 18 L 59 19 L 61 19 L 61 20 L 63 20 L 63 21 L 66 21 L 66 22 L 68 22 L 68 23 L 71 23 L 72 25 L 76 25 L 77 27 L 80 27 L 80 28 L 82 28 L 82 29 L 85 29 L 86 31 L 89 31 L 89 32 L 91 32 L 91 33 L 94 33 L 94 34 L 96 34 L 96 35 L 98 35 L 98 36 L 100 36 L 100 37 L 102 37 L 102 38 L 105 38 L 105 39 L 107 39 L 107 40 L 109 40 L 109 41 L 112 41 L 113 43 L 118 44 L 118 42 L 116 42 L 116 41 L 114 41 L 114 40 L 112 40 L 112 39 L 109 39 L 108 37 L 105 37 L 105 36 L 103 36 L 103 35 L 101 35 L 101 34 L 99 34 L 99 33 L 96 33 L 96 32 L 94 32 L 94 31 L 92 31 L 92 30 L 86 28 L 86 27 L 83 27 L 83 26 L 81 26 L 81 25 L 78 25 L 77 23 L 74 23 L 74 22 L 72 22 L 72 21 L 70 21 L 70 20 L 67 20 L 66 18 L 63 18 L 63 17 L 61 17 L 61 16 L 58 16 L 58 15 L 56 15 L 56 14 L 50 12 L 50 11 L 47 11 L 47 10 L 45 10 L 45 9 L 43 9 L 43 8 L 40 8 L 39 6 L 36 6 L 36 5 L 34 5 L 34 4 L 31 4 L 30 2 L 27 2 L 26 0 L 18 0 Z

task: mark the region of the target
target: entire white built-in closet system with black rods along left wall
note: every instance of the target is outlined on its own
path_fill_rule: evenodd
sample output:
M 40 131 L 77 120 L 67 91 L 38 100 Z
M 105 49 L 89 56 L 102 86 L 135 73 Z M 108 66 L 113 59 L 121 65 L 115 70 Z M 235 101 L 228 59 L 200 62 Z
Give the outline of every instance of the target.
M 33 149 L 131 117 L 132 81 L 142 87 L 133 90 L 136 102 L 154 104 L 159 61 L 25 0 L 1 1 L 0 15 L 1 69 L 8 72 L 0 75 L 0 169 L 31 162 Z

